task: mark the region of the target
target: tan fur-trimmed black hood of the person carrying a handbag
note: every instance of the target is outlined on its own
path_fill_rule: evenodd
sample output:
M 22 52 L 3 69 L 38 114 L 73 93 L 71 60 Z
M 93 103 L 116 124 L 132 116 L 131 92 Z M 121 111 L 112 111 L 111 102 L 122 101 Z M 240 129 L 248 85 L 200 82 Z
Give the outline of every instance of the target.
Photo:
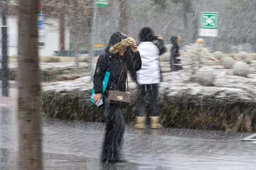
M 106 47 L 106 52 L 118 54 L 122 49 L 128 49 L 129 47 L 132 47 L 134 43 L 136 42 L 133 38 L 127 37 L 122 32 L 115 32 L 110 37 L 109 43 Z

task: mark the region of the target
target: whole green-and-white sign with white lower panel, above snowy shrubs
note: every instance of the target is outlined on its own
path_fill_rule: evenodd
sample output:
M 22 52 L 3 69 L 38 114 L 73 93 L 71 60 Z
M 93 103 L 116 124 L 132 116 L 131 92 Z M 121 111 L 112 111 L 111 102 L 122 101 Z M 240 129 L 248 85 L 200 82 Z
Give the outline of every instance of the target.
M 218 37 L 218 12 L 200 12 L 199 36 Z

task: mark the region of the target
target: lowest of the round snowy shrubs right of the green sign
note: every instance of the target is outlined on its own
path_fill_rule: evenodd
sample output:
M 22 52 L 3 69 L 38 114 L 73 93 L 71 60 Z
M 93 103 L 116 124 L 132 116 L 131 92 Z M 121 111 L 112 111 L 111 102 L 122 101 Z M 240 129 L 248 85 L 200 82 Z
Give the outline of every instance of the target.
M 233 65 L 232 73 L 234 75 L 247 77 L 250 73 L 250 65 L 245 62 L 236 62 Z

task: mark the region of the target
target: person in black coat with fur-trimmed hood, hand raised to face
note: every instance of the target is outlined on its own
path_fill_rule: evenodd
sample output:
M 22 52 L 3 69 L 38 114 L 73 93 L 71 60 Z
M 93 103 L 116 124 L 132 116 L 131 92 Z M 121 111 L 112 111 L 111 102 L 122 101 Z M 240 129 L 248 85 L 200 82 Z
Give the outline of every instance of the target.
M 110 79 L 104 93 L 104 113 L 106 114 L 106 134 L 102 150 L 102 162 L 124 162 L 120 158 L 120 147 L 124 134 L 124 117 L 121 104 L 106 102 L 108 90 L 126 90 L 126 66 L 129 71 L 141 69 L 140 53 L 132 38 L 121 32 L 115 32 L 106 47 L 106 52 L 98 58 L 94 73 L 94 101 L 98 103 L 102 98 L 102 80 L 106 71 L 110 72 Z

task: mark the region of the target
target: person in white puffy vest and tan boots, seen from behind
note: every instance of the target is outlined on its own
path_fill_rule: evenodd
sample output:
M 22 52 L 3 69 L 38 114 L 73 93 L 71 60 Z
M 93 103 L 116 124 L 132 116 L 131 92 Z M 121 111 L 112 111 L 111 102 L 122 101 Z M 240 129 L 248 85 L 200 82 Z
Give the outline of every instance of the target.
M 145 121 L 146 95 L 150 103 L 151 128 L 162 128 L 159 123 L 160 109 L 158 100 L 158 84 L 161 82 L 161 70 L 159 55 L 165 52 L 162 36 L 155 36 L 149 27 L 142 28 L 138 50 L 142 60 L 142 68 L 136 71 L 136 82 L 138 84 L 138 113 L 135 128 L 143 129 Z

